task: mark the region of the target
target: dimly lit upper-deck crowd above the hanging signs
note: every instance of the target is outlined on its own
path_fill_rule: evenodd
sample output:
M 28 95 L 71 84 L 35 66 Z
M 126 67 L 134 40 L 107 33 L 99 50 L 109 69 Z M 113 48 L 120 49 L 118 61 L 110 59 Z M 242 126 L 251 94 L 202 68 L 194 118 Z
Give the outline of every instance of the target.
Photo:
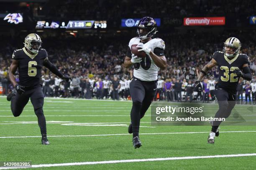
M 95 4 L 91 0 L 66 0 L 49 1 L 44 5 L 41 13 L 47 16 L 61 18 L 78 18 L 84 16 L 87 19 L 104 20 L 116 18 L 140 18 L 143 16 L 172 17 L 183 16 L 221 16 L 221 15 L 243 15 L 254 12 L 251 4 L 253 0 L 241 1 L 234 0 L 230 3 L 228 0 L 98 0 Z M 72 11 L 72 13 L 70 13 Z M 127 16 L 128 15 L 128 16 Z M 115 23 L 113 23 L 115 25 Z

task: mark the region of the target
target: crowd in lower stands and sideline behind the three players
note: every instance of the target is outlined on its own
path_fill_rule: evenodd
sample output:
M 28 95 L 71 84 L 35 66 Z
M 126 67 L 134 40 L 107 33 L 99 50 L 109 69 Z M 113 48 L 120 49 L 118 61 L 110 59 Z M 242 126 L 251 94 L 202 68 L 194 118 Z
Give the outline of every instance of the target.
M 217 35 L 209 34 L 209 36 L 205 36 L 205 34 L 189 31 L 186 34 L 159 34 L 158 37 L 166 42 L 165 56 L 168 67 L 166 70 L 159 71 L 159 76 L 161 80 L 164 80 L 164 84 L 161 86 L 161 94 L 158 92 L 156 100 L 180 101 L 185 100 L 186 95 L 191 98 L 191 92 L 185 93 L 187 87 L 183 85 L 182 90 L 180 90 L 181 87 L 179 87 L 177 81 L 179 81 L 179 84 L 185 81 L 187 83 L 191 81 L 191 84 L 193 84 L 200 69 L 210 61 L 213 52 L 223 49 L 223 42 L 227 37 L 236 36 L 241 40 L 241 50 L 249 56 L 251 72 L 254 75 L 254 72 L 256 72 L 255 32 L 251 34 L 249 31 L 226 31 Z M 87 40 L 87 38 L 81 37 L 56 39 L 56 37 L 44 38 L 42 36 L 42 46 L 48 52 L 49 60 L 61 72 L 74 77 L 71 83 L 65 83 L 55 77 L 49 70 L 43 68 L 42 85 L 44 94 L 54 97 L 129 99 L 128 86 L 121 88 L 122 83 L 120 82 L 126 79 L 130 80 L 133 75 L 132 67 L 129 69 L 123 67 L 127 45 L 131 37 L 102 37 L 97 40 L 91 40 L 91 38 Z M 8 78 L 11 55 L 13 50 L 23 47 L 22 42 L 23 39 L 20 38 L 20 40 L 15 39 L 0 46 L 0 82 L 5 94 L 13 88 Z M 213 76 L 213 79 L 217 79 L 217 67 L 210 70 L 205 78 L 210 79 L 211 76 Z M 118 80 L 114 80 L 115 77 Z M 109 84 L 105 85 L 103 80 L 109 81 Z M 113 83 L 114 81 L 119 81 L 119 83 Z M 244 87 L 246 82 L 243 81 L 242 83 L 244 83 Z M 114 84 L 116 87 L 112 87 Z M 108 92 L 106 90 L 104 92 L 106 87 L 108 87 Z M 176 92 L 174 92 L 175 89 Z M 113 97 L 113 93 L 115 97 Z M 116 93 L 119 95 L 116 95 Z M 192 92 L 194 100 L 207 101 L 211 99 L 209 94 L 197 95 Z

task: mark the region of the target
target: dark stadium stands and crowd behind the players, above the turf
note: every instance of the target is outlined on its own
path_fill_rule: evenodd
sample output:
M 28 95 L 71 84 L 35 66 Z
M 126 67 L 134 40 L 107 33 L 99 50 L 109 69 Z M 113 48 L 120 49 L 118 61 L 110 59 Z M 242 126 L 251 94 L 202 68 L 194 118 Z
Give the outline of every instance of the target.
M 113 77 L 118 77 L 120 81 L 122 77 L 131 78 L 133 68 L 122 67 L 128 42 L 136 36 L 136 27 L 128 26 L 136 25 L 136 18 L 144 16 L 160 21 L 156 37 L 165 41 L 168 68 L 161 70 L 159 75 L 165 82 L 175 83 L 174 78 L 180 79 L 182 83 L 184 79 L 194 82 L 198 70 L 210 60 L 213 52 L 222 50 L 223 42 L 228 37 L 237 37 L 242 42 L 242 52 L 249 56 L 254 76 L 255 2 L 247 0 L 237 6 L 238 3 L 239 0 L 232 3 L 228 0 L 1 0 L 0 92 L 5 95 L 13 88 L 8 79 L 13 50 L 22 48 L 24 37 L 35 32 L 41 36 L 42 47 L 47 50 L 51 62 L 62 72 L 75 77 L 70 85 L 59 82 L 57 77 L 44 69 L 42 84 L 46 96 L 103 98 L 101 84 L 98 88 L 95 86 L 99 78 L 104 80 L 107 77 L 110 82 Z M 9 13 L 20 13 L 23 22 L 15 24 L 4 20 Z M 225 17 L 225 21 L 220 22 L 220 25 L 185 25 L 184 18 L 193 17 Z M 130 23 L 125 25 L 127 19 L 134 19 L 134 23 L 129 20 Z M 76 28 L 74 24 L 71 28 L 69 21 L 77 22 Z M 89 25 L 82 26 L 78 21 L 87 21 Z M 102 26 L 97 25 L 95 28 L 88 21 L 102 23 Z M 216 68 L 208 73 L 210 76 L 218 77 Z M 245 81 L 242 83 L 243 86 L 246 84 Z M 161 100 L 166 100 L 165 87 L 162 88 L 164 92 Z M 182 90 L 185 91 L 184 87 Z M 171 91 L 172 100 L 178 100 L 174 97 L 175 88 L 171 88 Z M 111 98 L 111 94 L 110 86 L 107 98 Z M 184 100 L 184 92 L 182 95 Z M 129 99 L 128 93 L 123 97 L 121 92 L 119 97 Z M 202 100 L 202 97 L 194 97 L 194 100 Z

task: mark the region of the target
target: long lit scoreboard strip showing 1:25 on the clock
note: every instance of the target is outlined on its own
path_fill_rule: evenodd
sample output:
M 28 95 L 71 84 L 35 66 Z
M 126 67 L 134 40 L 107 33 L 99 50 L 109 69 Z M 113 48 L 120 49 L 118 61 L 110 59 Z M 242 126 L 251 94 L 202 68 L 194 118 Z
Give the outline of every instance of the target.
M 67 23 L 67 24 L 66 24 Z M 106 20 L 70 20 L 68 22 L 59 21 L 37 21 L 36 29 L 44 28 L 65 28 L 65 29 L 103 29 L 107 28 Z

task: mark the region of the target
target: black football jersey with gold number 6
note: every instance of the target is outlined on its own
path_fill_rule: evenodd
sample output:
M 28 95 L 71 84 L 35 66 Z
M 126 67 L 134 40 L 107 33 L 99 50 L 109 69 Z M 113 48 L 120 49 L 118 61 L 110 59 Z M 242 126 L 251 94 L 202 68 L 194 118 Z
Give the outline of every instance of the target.
M 41 69 L 44 59 L 47 57 L 44 49 L 39 50 L 37 54 L 29 54 L 25 47 L 14 50 L 13 59 L 18 61 L 19 84 L 26 87 L 40 86 Z

